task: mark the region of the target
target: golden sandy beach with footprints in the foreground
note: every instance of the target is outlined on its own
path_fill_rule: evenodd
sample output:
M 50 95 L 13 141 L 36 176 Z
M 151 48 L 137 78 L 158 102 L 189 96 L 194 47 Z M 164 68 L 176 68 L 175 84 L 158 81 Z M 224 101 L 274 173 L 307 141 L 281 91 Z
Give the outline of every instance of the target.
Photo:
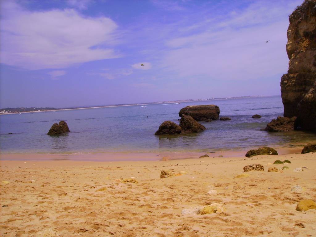
M 295 210 L 302 199 L 316 200 L 313 153 L 115 162 L 20 158 L 1 155 L 1 236 L 316 235 L 316 210 Z M 292 163 L 271 164 L 277 159 Z M 255 163 L 264 171 L 236 177 Z M 289 169 L 267 172 L 283 166 Z M 294 172 L 298 167 L 308 168 Z M 161 170 L 179 175 L 161 179 Z M 138 183 L 122 182 L 131 177 Z M 291 191 L 295 185 L 303 190 Z M 224 211 L 194 211 L 213 203 Z

